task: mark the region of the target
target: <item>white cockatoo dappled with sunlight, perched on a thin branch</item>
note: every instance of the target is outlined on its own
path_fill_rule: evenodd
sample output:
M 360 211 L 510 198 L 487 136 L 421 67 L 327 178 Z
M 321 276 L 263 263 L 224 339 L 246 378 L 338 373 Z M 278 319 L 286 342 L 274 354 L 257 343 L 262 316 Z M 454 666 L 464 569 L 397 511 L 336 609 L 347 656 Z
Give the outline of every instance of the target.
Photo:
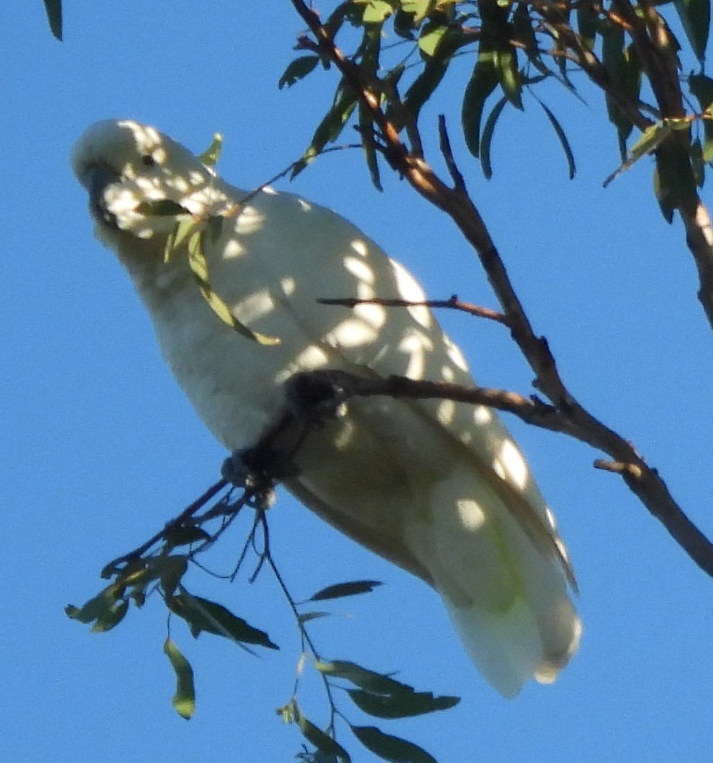
M 133 279 L 178 383 L 231 451 L 258 445 L 275 426 L 291 404 L 285 382 L 298 372 L 474 384 L 427 307 L 317 301 L 425 298 L 399 262 L 338 214 L 271 188 L 241 191 L 134 121 L 89 127 L 72 166 L 96 234 Z M 175 204 L 156 214 L 164 199 Z M 203 237 L 210 287 L 240 326 L 279 343 L 254 341 L 217 317 L 185 243 L 166 259 L 181 217 L 223 217 L 219 235 Z M 291 454 L 287 489 L 435 588 L 501 694 L 515 696 L 530 678 L 554 681 L 582 629 L 567 594 L 573 575 L 551 510 L 493 410 L 387 397 L 352 398 L 345 410 Z

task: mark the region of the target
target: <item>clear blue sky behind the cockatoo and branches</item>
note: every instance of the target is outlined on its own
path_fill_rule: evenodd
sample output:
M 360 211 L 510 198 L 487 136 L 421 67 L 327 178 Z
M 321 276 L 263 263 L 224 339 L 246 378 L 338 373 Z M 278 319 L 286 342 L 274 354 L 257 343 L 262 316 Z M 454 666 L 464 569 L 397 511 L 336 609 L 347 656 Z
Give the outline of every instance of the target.
M 304 149 L 333 81 L 317 73 L 278 91 L 303 27 L 287 0 L 200 11 L 176 2 L 170 12 L 147 2 L 67 5 L 64 43 L 50 37 L 39 0 L 5 3 L 0 17 L 0 758 L 292 760 L 300 735 L 275 708 L 290 696 L 299 642 L 267 575 L 252 587 L 191 578 L 194 592 L 267 629 L 282 649 L 253 658 L 221 639 L 194 641 L 174 623 L 197 678 L 190 722 L 171 707 L 158 601 L 105 635 L 63 613 L 98 590 L 105 562 L 214 481 L 224 455 L 162 364 L 124 272 L 93 239 L 69 150 L 100 118 L 156 124 L 196 151 L 220 130 L 221 172 L 252 187 Z M 682 226 L 663 222 L 650 193 L 650 163 L 602 189 L 618 152 L 599 96 L 586 92 L 583 105 L 552 88 L 544 97 L 570 135 L 577 179 L 567 181 L 554 134 L 530 99 L 524 116 L 503 114 L 487 182 L 457 135 L 458 86 L 457 78 L 447 83 L 425 124 L 447 114 L 471 193 L 570 389 L 637 444 L 713 533 L 710 330 Z M 432 298 L 458 292 L 494 306 L 451 224 L 403 182 L 386 177 L 384 189 L 371 187 L 358 152 L 321 159 L 290 188 L 358 224 Z M 711 201 L 708 188 L 704 198 Z M 531 391 L 532 373 L 502 328 L 442 320 L 480 383 Z M 617 478 L 593 470 L 599 454 L 508 424 L 557 513 L 580 582 L 585 633 L 560 681 L 501 699 L 467 660 L 435 594 L 283 495 L 273 549 L 297 597 L 354 578 L 387 583 L 336 603 L 337 617 L 315 623 L 316 641 L 333 658 L 460 695 L 454 710 L 382 724 L 440 763 L 708 757 L 713 581 Z M 235 533 L 211 566 L 230 571 L 240 542 Z M 304 707 L 320 723 L 319 687 L 307 679 L 304 689 Z M 374 760 L 346 729 L 341 739 L 356 761 Z

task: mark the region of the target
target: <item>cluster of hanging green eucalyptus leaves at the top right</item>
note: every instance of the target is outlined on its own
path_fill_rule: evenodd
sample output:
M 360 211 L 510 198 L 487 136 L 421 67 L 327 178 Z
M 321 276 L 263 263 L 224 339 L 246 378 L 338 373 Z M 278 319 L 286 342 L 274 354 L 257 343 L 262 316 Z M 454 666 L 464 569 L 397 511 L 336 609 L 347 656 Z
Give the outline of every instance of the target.
M 463 80 L 461 128 L 487 178 L 493 174 L 493 137 L 500 118 L 506 111 L 525 111 L 528 99 L 551 124 L 568 174 L 574 176 L 572 146 L 541 92 L 544 82 L 556 81 L 581 98 L 574 82 L 584 74 L 605 97 L 621 153 L 621 166 L 608 180 L 642 156 L 654 155 L 654 190 L 671 221 L 673 211 L 693 203 L 713 159 L 713 79 L 702 70 L 682 74 L 681 43 L 664 18 L 670 9 L 702 67 L 710 0 L 636 6 L 628 0 L 340 2 L 322 21 L 326 38 L 300 37 L 297 47 L 310 53 L 287 66 L 280 79 L 281 87 L 290 86 L 319 64 L 329 69 L 337 47 L 344 56 L 332 104 L 295 174 L 352 125 L 361 136 L 371 179 L 381 189 L 380 159 L 393 164 L 385 131 L 396 130 L 409 155 L 422 156 L 422 107 L 451 69 L 463 77 L 464 67 L 452 65 L 465 57 L 472 65 Z M 350 70 L 356 76 L 348 76 Z M 355 81 L 366 83 L 368 92 L 355 87 Z M 698 109 L 686 111 L 686 89 Z M 653 98 L 644 101 L 642 93 Z M 374 104 L 385 121 L 374 118 Z M 628 150 L 634 128 L 643 135 Z

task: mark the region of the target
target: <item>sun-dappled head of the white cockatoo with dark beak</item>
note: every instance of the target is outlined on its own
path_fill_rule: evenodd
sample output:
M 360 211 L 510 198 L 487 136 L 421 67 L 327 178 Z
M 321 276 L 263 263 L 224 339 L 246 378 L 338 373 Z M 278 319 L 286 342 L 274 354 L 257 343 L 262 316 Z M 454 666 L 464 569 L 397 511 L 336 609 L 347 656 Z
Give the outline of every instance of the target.
M 100 240 L 168 235 L 177 217 L 220 214 L 220 181 L 188 149 L 153 127 L 106 120 L 89 127 L 72 151 L 72 169 L 89 194 Z M 169 201 L 163 208 L 159 201 Z

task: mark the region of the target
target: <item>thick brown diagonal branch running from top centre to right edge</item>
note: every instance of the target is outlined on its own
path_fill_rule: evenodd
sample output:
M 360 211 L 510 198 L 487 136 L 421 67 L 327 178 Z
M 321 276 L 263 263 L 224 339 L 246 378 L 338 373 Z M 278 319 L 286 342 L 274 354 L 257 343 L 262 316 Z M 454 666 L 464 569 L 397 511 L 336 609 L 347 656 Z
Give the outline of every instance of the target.
M 512 338 L 535 371 L 537 388 L 554 404 L 558 416 L 562 417 L 561 420 L 566 421 L 566 425 L 563 424 L 558 431 L 581 439 L 584 443 L 607 453 L 615 462 L 625 465 L 620 473 L 628 487 L 634 491 L 650 513 L 666 526 L 666 530 L 696 564 L 708 575 L 713 576 L 713 544 L 682 512 L 656 469 L 650 468 L 630 443 L 589 414 L 567 390 L 557 371 L 557 365 L 547 341 L 544 337 L 535 334 L 510 282 L 495 243 L 464 186 L 456 183 L 451 188 L 435 174 L 425 159 L 409 153 L 400 140 L 399 131 L 387 120 L 381 109 L 380 99 L 371 89 L 369 82 L 361 76 L 358 66 L 347 60 L 342 51 L 336 47 L 320 23 L 319 16 L 307 8 L 303 0 L 291 0 L 291 2 L 310 28 L 320 51 L 335 64 L 352 89 L 358 93 L 362 105 L 371 114 L 386 144 L 387 156 L 393 169 L 400 172 L 419 195 L 448 214 L 468 243 L 474 247 L 490 285 L 503 307 Z M 452 169 L 451 167 L 451 175 Z M 710 229 L 707 230 L 710 233 Z M 377 392 L 370 394 L 377 394 Z M 494 396 L 485 404 L 499 407 L 498 402 L 506 401 Z M 510 404 L 512 405 L 512 401 Z M 515 409 L 523 410 L 519 404 L 515 405 Z M 511 412 L 515 413 L 516 410 Z

